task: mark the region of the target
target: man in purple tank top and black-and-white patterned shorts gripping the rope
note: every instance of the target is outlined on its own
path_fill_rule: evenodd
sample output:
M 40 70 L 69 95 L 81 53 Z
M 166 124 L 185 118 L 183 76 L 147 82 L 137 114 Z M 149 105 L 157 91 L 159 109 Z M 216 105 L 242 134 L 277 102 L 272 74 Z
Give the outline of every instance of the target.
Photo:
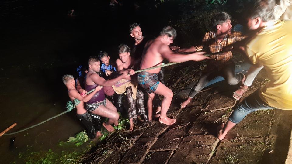
M 97 85 L 101 85 L 103 88 L 94 94 L 92 99 L 86 103 L 86 109 L 93 114 L 109 118 L 106 123 L 103 123 L 103 126 L 109 132 L 113 132 L 114 129 L 111 124 L 114 123 L 115 126 L 118 125 L 119 114 L 117 113 L 116 107 L 105 98 L 104 87 L 111 87 L 121 79 L 130 80 L 130 75 L 122 74 L 114 79 L 105 80 L 98 75 L 98 72 L 100 71 L 100 61 L 96 56 L 89 57 L 88 65 L 88 73 L 85 78 L 85 90 L 90 91 Z

